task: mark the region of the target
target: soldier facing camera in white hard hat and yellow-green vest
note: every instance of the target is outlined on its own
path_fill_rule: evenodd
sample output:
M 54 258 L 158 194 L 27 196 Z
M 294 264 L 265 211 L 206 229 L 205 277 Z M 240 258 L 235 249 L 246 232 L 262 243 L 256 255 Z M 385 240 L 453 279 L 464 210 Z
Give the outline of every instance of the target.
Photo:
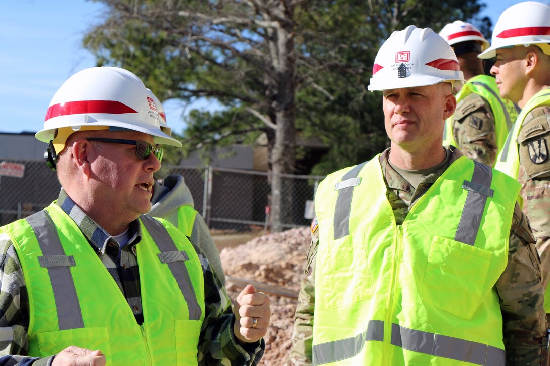
M 463 81 L 429 28 L 379 49 L 368 90 L 383 92 L 390 148 L 318 187 L 289 364 L 543 364 L 520 185 L 442 146 Z

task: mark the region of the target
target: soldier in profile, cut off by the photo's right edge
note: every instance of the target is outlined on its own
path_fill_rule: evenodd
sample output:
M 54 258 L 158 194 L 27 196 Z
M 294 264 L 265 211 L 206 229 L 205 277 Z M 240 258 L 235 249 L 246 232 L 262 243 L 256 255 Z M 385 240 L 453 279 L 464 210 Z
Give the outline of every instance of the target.
M 496 56 L 491 73 L 496 76 L 500 95 L 521 107 L 495 168 L 521 183 L 523 211 L 531 223 L 542 262 L 547 314 L 550 313 L 549 43 L 550 6 L 527 1 L 504 10 L 494 26 L 491 47 L 480 54 L 481 58 Z

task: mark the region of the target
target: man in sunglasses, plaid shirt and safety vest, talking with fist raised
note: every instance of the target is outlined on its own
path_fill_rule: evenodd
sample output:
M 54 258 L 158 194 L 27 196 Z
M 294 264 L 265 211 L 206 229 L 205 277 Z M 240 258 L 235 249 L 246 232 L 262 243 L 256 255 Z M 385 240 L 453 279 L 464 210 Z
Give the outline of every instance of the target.
M 151 208 L 158 108 L 127 70 L 89 68 L 53 96 L 44 129 L 62 190 L 0 228 L 0 364 L 257 364 L 269 299 L 230 301 L 204 254 Z

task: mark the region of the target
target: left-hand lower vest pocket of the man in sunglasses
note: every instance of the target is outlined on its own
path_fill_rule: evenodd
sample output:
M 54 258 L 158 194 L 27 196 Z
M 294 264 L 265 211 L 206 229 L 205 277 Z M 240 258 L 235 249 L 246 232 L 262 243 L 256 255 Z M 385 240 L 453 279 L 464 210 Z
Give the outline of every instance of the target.
M 107 328 L 76 328 L 41 332 L 36 334 L 40 357 L 52 356 L 69 346 L 100 350 L 105 354 L 107 365 L 112 364 L 111 343 Z

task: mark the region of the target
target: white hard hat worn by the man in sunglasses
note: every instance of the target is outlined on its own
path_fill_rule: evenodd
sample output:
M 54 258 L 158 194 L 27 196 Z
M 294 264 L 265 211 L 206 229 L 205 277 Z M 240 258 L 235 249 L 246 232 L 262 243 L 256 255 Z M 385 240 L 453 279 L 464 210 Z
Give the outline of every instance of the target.
M 182 143 L 161 130 L 155 101 L 145 85 L 130 71 L 116 67 L 88 68 L 58 89 L 50 102 L 40 141 L 66 139 L 79 130 L 132 130 L 151 135 L 156 144 L 181 147 Z M 61 146 L 65 141 L 58 142 Z M 58 150 L 56 148 L 56 150 Z

